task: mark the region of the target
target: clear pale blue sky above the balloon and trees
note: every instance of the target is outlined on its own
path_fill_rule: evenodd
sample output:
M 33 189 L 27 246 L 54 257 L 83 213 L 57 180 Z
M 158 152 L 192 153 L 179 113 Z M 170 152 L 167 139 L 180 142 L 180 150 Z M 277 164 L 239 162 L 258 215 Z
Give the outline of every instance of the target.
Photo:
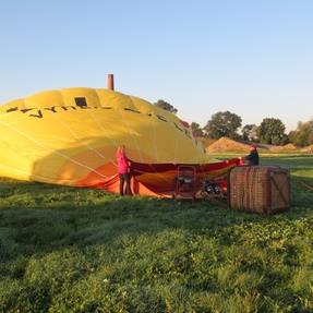
M 287 130 L 313 117 L 311 0 L 2 0 L 0 39 L 1 104 L 113 73 L 202 127 L 225 110 Z

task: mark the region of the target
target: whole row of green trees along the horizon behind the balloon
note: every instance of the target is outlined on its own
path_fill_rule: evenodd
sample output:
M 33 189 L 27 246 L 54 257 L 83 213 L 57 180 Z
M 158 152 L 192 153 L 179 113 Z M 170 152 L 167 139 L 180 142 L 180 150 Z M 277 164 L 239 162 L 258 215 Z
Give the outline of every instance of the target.
M 178 110 L 165 100 L 158 100 L 155 106 L 177 113 Z M 237 141 L 256 142 L 270 145 L 292 143 L 299 147 L 313 144 L 313 119 L 299 122 L 296 130 L 286 133 L 286 127 L 280 119 L 264 118 L 260 125 L 245 124 L 242 127 L 240 116 L 230 111 L 218 111 L 207 121 L 205 127 L 191 123 L 193 135 L 218 140 L 227 136 Z

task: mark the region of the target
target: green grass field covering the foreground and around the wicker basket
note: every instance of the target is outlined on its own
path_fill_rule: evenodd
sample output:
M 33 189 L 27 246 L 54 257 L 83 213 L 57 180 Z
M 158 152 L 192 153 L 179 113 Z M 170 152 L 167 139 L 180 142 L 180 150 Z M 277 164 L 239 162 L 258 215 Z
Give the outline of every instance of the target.
M 289 212 L 2 179 L 0 312 L 313 312 L 313 156 L 262 162 Z

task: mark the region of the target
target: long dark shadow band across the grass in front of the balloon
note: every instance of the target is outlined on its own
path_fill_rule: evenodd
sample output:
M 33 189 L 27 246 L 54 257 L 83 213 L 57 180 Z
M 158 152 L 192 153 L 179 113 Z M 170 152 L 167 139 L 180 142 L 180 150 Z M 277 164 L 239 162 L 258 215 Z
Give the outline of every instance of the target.
M 313 179 L 309 181 L 312 183 Z M 292 186 L 293 207 L 266 217 L 208 202 L 120 197 L 97 190 L 2 181 L 0 261 L 109 243 L 122 236 L 156 236 L 172 229 L 213 238 L 222 233 L 220 239 L 228 245 L 232 243 L 229 233 L 236 225 L 289 222 L 310 216 L 313 193 L 303 191 L 296 182 Z

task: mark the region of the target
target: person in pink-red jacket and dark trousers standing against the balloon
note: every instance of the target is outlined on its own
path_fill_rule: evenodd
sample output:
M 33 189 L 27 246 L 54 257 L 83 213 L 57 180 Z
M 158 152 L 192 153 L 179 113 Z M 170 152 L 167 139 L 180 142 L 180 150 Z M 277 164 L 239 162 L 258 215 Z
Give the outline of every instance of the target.
M 120 178 L 120 195 L 132 195 L 130 160 L 127 157 L 125 146 L 121 145 L 117 151 L 118 173 Z

